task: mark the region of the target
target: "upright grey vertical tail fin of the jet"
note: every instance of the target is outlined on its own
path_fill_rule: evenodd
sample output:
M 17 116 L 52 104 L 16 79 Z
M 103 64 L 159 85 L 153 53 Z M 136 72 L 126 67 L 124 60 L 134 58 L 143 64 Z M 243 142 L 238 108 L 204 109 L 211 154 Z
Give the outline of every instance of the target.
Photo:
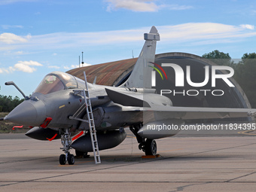
M 152 26 L 151 31 L 144 34 L 144 39 L 145 44 L 139 54 L 133 72 L 120 87 L 151 88 L 151 72 L 153 69 L 148 66 L 152 65 L 151 62 L 154 62 L 157 41 L 160 41 L 157 28 Z

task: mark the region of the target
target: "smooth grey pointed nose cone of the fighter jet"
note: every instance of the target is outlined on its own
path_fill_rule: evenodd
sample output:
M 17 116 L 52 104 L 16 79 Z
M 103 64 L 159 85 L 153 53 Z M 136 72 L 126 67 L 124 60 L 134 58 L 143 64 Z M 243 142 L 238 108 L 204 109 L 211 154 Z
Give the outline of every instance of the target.
M 45 108 L 35 105 L 30 101 L 24 101 L 20 103 L 13 111 L 11 111 L 6 117 L 5 120 L 9 120 L 13 123 L 19 123 L 27 126 L 38 126 L 43 122 L 42 119 L 45 117 L 38 117 L 38 111 L 44 111 Z M 39 107 L 39 108 L 38 108 Z

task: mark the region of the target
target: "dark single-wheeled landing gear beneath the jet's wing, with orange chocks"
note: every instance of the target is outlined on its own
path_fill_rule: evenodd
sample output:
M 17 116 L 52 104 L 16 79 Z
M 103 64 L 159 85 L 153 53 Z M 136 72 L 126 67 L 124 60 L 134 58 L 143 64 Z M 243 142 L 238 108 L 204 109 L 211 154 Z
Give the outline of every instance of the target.
M 139 136 L 138 131 L 142 128 L 142 123 L 135 126 L 130 126 L 130 130 L 136 136 L 139 143 L 139 150 L 145 152 L 145 155 L 156 155 L 157 154 L 157 142 L 154 139 L 145 139 Z

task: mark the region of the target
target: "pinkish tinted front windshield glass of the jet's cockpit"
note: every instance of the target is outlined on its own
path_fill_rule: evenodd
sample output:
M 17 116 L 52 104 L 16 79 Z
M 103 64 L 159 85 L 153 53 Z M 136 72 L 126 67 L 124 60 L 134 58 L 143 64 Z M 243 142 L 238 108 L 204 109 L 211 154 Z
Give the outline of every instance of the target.
M 46 75 L 43 81 L 36 88 L 35 93 L 42 93 L 44 95 L 53 93 L 59 90 L 64 90 L 64 84 L 55 75 Z

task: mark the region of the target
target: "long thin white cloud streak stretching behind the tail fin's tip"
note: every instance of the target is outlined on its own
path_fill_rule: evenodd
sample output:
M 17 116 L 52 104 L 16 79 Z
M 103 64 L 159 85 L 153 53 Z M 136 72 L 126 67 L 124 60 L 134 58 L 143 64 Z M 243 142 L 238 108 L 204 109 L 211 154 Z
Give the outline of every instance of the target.
M 160 32 L 161 44 L 184 43 L 187 45 L 211 41 L 220 43 L 232 43 L 235 41 L 245 41 L 245 38 L 256 36 L 254 26 L 239 25 L 232 26 L 222 23 L 184 23 L 174 26 L 157 26 Z M 248 30 L 250 29 L 250 30 Z M 129 44 L 131 42 L 142 42 L 143 33 L 148 32 L 150 26 L 139 29 L 116 30 L 105 32 L 57 32 L 45 35 L 33 35 L 29 41 L 23 40 L 19 44 L 6 44 L 0 46 L 0 51 L 16 50 L 20 53 L 38 53 L 42 51 L 55 51 L 66 48 L 99 47 L 103 45 Z M 1 40 L 0 40 L 1 41 Z M 11 51 L 10 53 L 15 53 Z M 66 66 L 69 67 L 70 66 Z

